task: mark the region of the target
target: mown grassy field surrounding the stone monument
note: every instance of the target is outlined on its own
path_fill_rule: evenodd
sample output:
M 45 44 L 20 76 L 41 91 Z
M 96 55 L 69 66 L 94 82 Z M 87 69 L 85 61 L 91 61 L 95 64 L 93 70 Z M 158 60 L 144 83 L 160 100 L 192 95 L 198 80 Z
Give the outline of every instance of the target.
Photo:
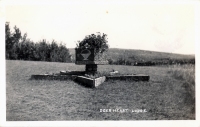
M 193 66 L 99 65 L 99 71 L 147 74 L 149 82 L 107 81 L 91 89 L 73 81 L 30 80 L 32 74 L 84 70 L 73 63 L 6 61 L 7 121 L 194 120 Z M 128 109 L 127 112 L 100 112 Z M 136 113 L 132 110 L 145 109 Z

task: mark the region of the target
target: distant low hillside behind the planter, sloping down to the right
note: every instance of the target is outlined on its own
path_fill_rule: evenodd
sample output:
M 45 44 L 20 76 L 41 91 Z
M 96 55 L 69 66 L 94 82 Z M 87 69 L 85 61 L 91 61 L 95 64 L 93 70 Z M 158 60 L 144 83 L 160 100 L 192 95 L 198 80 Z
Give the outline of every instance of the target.
M 69 49 L 73 61 L 75 60 L 74 48 Z M 107 58 L 111 64 L 126 64 L 135 65 L 137 64 L 173 64 L 173 63 L 193 63 L 195 55 L 182 55 L 165 52 L 155 52 L 146 50 L 135 50 L 135 49 L 117 49 L 111 48 L 107 52 Z

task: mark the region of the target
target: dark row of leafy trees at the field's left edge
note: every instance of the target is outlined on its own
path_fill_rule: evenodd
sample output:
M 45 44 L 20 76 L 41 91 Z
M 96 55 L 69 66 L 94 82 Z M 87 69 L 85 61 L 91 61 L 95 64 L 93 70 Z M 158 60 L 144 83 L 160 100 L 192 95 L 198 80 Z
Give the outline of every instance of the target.
M 27 33 L 22 36 L 16 26 L 12 32 L 9 22 L 5 24 L 5 43 L 8 60 L 71 62 L 71 55 L 64 44 L 57 44 L 55 40 L 49 43 L 45 39 L 33 42 L 27 38 Z

